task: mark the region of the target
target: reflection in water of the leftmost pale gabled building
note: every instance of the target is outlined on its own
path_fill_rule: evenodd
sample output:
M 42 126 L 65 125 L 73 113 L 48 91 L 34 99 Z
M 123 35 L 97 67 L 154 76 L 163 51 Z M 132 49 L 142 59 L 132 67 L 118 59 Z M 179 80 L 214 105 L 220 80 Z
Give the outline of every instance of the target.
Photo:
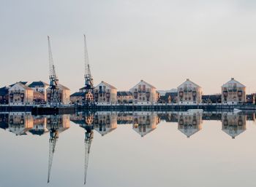
M 33 116 L 23 112 L 11 112 L 9 114 L 9 130 L 15 135 L 26 135 L 33 128 Z

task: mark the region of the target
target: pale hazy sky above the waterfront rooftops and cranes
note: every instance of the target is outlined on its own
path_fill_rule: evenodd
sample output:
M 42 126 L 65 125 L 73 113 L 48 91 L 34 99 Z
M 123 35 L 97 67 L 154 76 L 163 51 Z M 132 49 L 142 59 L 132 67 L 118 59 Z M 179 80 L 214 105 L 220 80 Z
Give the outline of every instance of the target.
M 256 92 L 255 21 L 253 0 L 1 0 L 0 87 L 49 81 L 49 35 L 59 82 L 77 91 L 85 33 L 94 84 L 189 78 L 210 94 L 234 77 Z

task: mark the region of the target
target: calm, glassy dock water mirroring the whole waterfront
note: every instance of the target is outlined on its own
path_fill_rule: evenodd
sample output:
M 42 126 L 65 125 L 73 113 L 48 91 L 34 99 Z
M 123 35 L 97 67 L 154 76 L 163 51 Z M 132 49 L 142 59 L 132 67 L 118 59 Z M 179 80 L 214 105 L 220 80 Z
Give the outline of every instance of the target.
M 253 113 L 9 113 L 0 126 L 1 187 L 256 186 Z

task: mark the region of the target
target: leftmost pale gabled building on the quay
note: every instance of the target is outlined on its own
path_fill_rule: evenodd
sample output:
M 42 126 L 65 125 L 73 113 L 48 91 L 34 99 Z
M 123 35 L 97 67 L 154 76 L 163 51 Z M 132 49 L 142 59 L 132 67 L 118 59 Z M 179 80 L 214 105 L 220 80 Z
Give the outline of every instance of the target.
M 34 90 L 20 82 L 9 89 L 9 104 L 12 106 L 33 104 Z

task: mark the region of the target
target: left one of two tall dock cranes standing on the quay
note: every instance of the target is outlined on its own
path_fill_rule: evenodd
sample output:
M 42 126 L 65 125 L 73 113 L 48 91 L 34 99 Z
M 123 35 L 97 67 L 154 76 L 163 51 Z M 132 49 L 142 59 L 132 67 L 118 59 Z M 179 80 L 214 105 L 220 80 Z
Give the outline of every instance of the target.
M 59 98 L 59 79 L 56 75 L 55 66 L 53 64 L 53 53 L 51 52 L 50 47 L 50 36 L 48 36 L 48 52 L 49 52 L 49 68 L 50 68 L 50 92 L 48 92 L 48 104 L 50 106 L 56 107 L 60 105 Z

